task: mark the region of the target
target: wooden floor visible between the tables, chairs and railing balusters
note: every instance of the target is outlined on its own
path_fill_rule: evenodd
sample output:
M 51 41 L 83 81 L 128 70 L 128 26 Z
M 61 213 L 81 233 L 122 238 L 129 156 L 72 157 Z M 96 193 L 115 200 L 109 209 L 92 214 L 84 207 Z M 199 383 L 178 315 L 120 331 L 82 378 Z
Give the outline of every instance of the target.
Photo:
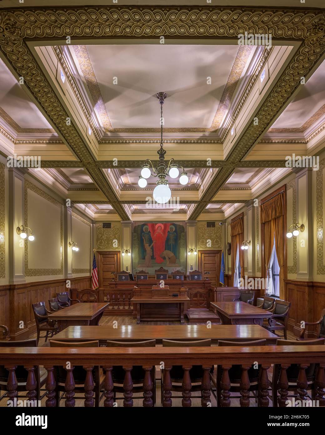
M 132 316 L 103 316 L 99 322 L 100 325 L 112 325 L 113 327 L 113 321 L 117 322 L 117 325 L 122 326 L 122 325 L 136 325 L 136 318 L 133 318 Z M 185 320 L 186 324 L 189 324 L 189 322 L 187 320 Z M 116 325 L 116 324 L 115 324 Z M 141 322 L 141 325 L 178 325 L 179 326 L 179 322 L 175 321 L 175 322 Z M 192 323 L 193 325 L 193 323 Z M 197 325 L 205 325 L 205 323 L 197 323 Z M 36 333 L 30 335 L 30 338 L 36 338 Z M 288 340 L 295 340 L 295 336 L 288 331 Z M 49 346 L 49 343 L 46 342 L 45 343 L 45 339 L 44 338 L 40 338 L 40 342 L 39 342 L 39 346 Z M 157 347 L 160 347 L 161 345 L 157 345 Z M 215 346 L 215 345 L 212 345 Z M 269 369 L 269 379 L 271 381 L 272 379 L 272 368 Z M 3 394 L 3 391 L 1 392 Z M 156 367 L 156 405 L 157 407 L 161 407 L 161 400 L 160 400 L 160 371 L 159 371 L 159 366 Z M 2 395 L 1 394 L 1 395 Z M 21 395 L 24 395 L 24 392 L 20 393 Z M 174 395 L 181 395 L 181 393 L 175 393 L 173 392 L 172 394 Z M 201 406 L 201 399 L 200 398 L 196 398 L 196 396 L 199 396 L 199 392 L 192 392 L 192 406 Z M 77 399 L 76 396 L 82 397 L 82 399 Z M 232 393 L 233 395 L 239 395 L 239 393 Z M 84 403 L 84 397 L 83 394 L 79 393 L 76 394 L 75 398 L 76 398 L 76 406 L 83 406 Z M 136 400 L 136 397 L 139 397 L 140 400 Z M 103 398 L 100 402 L 100 406 L 103 406 L 103 402 L 104 402 Z M 45 400 L 46 397 L 42 399 L 41 401 L 41 406 L 45 406 Z M 133 406 L 142 406 L 142 394 L 133 394 Z M 117 406 L 123 406 L 123 394 L 118 394 L 117 398 L 116 398 L 116 402 L 117 402 Z M 177 398 L 177 399 L 173 399 L 172 398 L 172 404 L 173 406 L 176 407 L 181 407 L 182 406 L 182 399 L 181 398 Z M 3 406 L 7 406 L 7 399 L 3 398 L 0 401 L 0 407 Z M 60 406 L 64 407 L 64 399 L 61 400 L 60 402 Z M 214 399 L 213 395 L 211 394 L 211 406 L 216 406 L 216 400 Z M 239 405 L 239 399 L 238 398 L 234 398 L 231 400 L 231 406 L 240 406 Z M 251 399 L 250 400 L 250 405 L 249 406 L 253 406 L 256 407 L 257 404 L 255 403 L 255 399 Z M 270 400 L 270 405 L 272 406 L 272 401 Z

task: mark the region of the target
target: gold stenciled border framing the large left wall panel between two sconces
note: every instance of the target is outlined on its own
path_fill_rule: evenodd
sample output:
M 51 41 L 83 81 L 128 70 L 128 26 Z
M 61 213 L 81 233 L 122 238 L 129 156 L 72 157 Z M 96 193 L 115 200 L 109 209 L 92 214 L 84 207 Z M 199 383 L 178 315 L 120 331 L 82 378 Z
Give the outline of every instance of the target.
M 39 187 L 30 183 L 24 182 L 24 214 L 25 226 L 28 226 L 28 189 L 35 192 L 38 196 L 49 201 L 51 204 L 60 208 L 60 269 L 30 269 L 28 267 L 28 242 L 25 240 L 25 276 L 48 276 L 48 275 L 63 275 L 63 205 L 52 196 L 48 195 Z

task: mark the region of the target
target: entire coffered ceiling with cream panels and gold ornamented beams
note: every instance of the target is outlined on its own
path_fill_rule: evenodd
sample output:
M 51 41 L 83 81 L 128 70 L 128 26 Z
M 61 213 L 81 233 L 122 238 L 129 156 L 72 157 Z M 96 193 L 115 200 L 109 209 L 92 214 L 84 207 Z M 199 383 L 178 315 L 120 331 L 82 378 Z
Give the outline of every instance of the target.
M 312 4 L 272 2 L 263 16 L 60 3 L 0 4 L 0 151 L 40 155 L 30 174 L 90 218 L 222 220 L 289 174 L 287 155 L 324 149 L 325 15 Z M 238 44 L 263 29 L 272 47 Z M 156 178 L 137 184 L 146 158 L 158 160 L 159 91 L 165 158 L 189 176 L 185 187 L 168 177 L 175 201 L 160 208 L 148 201 Z

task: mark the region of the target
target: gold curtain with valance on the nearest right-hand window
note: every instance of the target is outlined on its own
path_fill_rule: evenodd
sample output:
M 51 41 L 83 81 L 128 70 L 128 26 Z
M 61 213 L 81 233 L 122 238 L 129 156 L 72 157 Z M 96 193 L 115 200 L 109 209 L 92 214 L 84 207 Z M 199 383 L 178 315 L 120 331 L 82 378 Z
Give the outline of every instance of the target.
M 275 240 L 275 252 L 278 258 L 280 272 L 280 297 L 284 294 L 284 194 L 277 194 L 274 198 L 261 204 L 261 222 L 264 223 L 264 252 L 265 268 L 269 264 Z

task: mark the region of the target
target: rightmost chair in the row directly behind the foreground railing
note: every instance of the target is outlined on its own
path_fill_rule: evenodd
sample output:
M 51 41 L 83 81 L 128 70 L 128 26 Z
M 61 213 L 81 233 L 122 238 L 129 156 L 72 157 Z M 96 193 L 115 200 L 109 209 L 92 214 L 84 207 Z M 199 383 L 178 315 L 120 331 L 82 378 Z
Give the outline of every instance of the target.
M 316 338 L 315 340 L 309 340 L 309 341 L 295 341 L 295 340 L 277 340 L 276 345 L 277 346 L 297 346 L 297 345 L 324 345 L 325 338 Z M 325 351 L 325 348 L 324 348 Z M 312 363 L 305 369 L 305 374 L 308 382 L 308 387 L 306 390 L 311 390 L 312 396 L 310 397 L 307 393 L 307 397 L 311 398 L 312 400 L 315 400 L 315 378 L 317 375 L 317 369 L 319 364 Z M 298 376 L 299 376 L 299 365 L 298 364 L 291 364 L 287 370 L 287 378 L 289 382 L 289 388 L 288 391 L 292 391 L 292 395 L 288 395 L 288 397 L 298 397 Z M 281 374 L 281 364 L 275 364 L 273 365 L 273 374 L 272 374 L 272 402 L 273 406 L 278 407 L 278 382 L 279 377 Z M 299 398 L 300 400 L 300 398 Z

